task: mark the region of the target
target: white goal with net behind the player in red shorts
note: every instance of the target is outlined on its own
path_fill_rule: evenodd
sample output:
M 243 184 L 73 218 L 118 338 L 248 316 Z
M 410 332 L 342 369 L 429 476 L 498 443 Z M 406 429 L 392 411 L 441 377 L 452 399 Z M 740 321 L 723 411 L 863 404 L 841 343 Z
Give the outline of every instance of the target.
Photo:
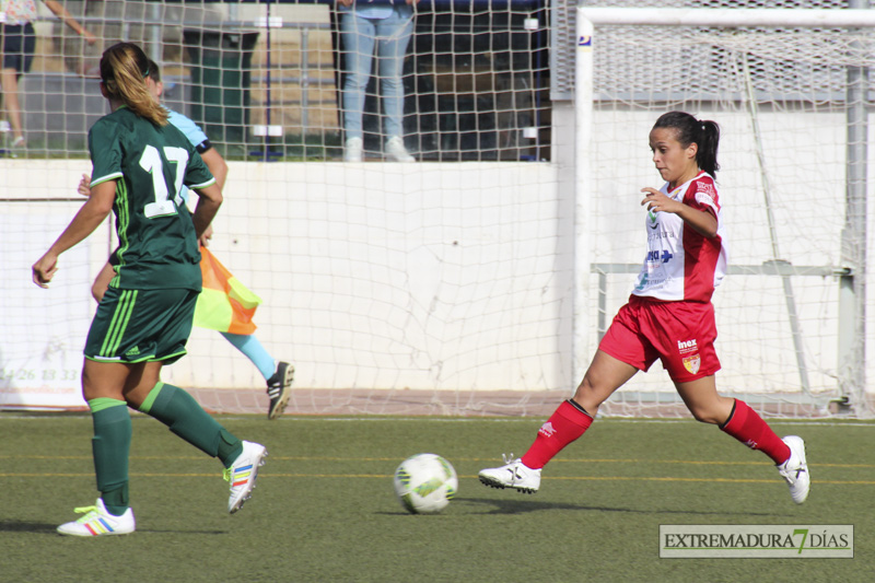
M 625 246 L 641 248 L 640 221 L 619 207 L 637 207 L 657 179 L 646 132 L 682 109 L 723 136 L 721 390 L 775 411 L 867 415 L 875 11 L 582 7 L 576 16 L 574 376 L 640 266 Z M 611 399 L 620 409 L 672 399 L 633 385 Z

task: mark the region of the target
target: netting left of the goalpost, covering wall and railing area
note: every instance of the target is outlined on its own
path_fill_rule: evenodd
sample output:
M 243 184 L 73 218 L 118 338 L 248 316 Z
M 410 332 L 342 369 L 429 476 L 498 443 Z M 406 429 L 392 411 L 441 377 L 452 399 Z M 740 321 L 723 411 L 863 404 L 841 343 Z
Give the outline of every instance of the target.
M 30 266 L 82 203 L 86 132 L 107 113 L 97 65 L 119 40 L 159 63 L 165 105 L 228 161 L 211 248 L 264 300 L 267 353 L 296 369 L 288 411 L 515 413 L 568 393 L 572 219 L 549 162 L 544 2 L 417 7 L 402 70 L 415 163 L 384 152 L 380 67 L 362 161 L 345 161 L 334 3 L 63 2 L 94 45 L 37 4 L 26 147 L 0 136 L 0 406 L 84 405 L 90 287 L 113 228 L 66 253 L 49 291 Z M 264 375 L 220 335 L 196 328 L 188 350 L 166 381 L 212 410 L 266 411 Z

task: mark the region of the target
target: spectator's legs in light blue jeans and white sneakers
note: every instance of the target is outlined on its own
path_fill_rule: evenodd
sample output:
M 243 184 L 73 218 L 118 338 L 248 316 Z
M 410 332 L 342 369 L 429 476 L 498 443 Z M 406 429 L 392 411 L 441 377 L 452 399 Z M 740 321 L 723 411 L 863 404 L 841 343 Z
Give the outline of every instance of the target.
M 404 145 L 401 72 L 413 33 L 419 0 L 337 0 L 343 53 L 343 132 L 346 162 L 361 162 L 362 113 L 376 47 L 376 74 L 383 101 L 384 153 L 395 162 L 415 162 Z

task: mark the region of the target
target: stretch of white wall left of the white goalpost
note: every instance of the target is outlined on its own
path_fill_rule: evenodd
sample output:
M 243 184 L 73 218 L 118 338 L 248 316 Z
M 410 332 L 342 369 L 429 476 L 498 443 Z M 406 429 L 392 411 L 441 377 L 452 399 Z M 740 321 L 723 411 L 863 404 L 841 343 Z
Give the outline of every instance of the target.
M 62 256 L 50 290 L 33 285 L 30 265 L 79 206 L 73 189 L 89 163 L 0 164 L 0 198 L 45 191 L 73 199 L 3 205 L 16 209 L 10 220 L 26 237 L 2 237 L 4 263 L 15 256 L 3 295 L 15 301 L 0 316 L 26 317 L 13 318 L 0 359 L 4 370 L 33 370 L 36 377 L 0 385 L 7 386 L 0 399 L 9 400 L 12 387 L 48 389 L 42 377 L 50 363 L 35 354 L 58 338 L 65 359 L 81 359 L 93 310 L 90 281 L 114 243 L 101 228 Z M 211 248 L 264 299 L 256 335 L 275 358 L 295 363 L 298 386 L 570 386 L 571 217 L 560 213 L 549 164 L 230 166 Z M 62 330 L 46 325 L 47 306 L 59 313 L 55 322 L 67 322 Z M 189 353 L 166 380 L 262 386 L 254 366 L 215 333 L 196 329 Z

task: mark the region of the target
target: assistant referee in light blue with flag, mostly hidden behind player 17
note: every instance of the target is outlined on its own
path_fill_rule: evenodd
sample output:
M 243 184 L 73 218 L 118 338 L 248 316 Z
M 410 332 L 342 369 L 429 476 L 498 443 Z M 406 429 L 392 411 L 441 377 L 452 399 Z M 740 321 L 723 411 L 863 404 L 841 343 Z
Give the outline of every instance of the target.
M 161 81 L 161 72 L 158 63 L 151 59 L 149 60 L 149 75 L 145 78 L 145 84 L 155 101 L 160 103 L 161 95 L 164 92 L 164 83 Z M 207 164 L 207 167 L 215 177 L 215 183 L 219 185 L 219 188 L 224 189 L 225 178 L 228 177 L 228 164 L 222 155 L 212 147 L 210 140 L 207 138 L 207 135 L 203 133 L 203 131 L 188 117 L 167 107 L 164 108 L 170 116 L 167 121 L 179 129 L 179 131 L 182 131 L 185 137 L 188 138 L 188 141 L 192 147 L 195 147 L 203 162 Z M 183 190 L 184 193 L 182 196 L 187 201 L 187 189 L 184 188 Z M 79 183 L 79 193 L 84 196 L 90 195 L 91 190 L 89 188 L 88 175 L 82 176 L 82 180 Z M 217 261 L 214 257 L 212 257 L 212 254 L 205 253 L 203 249 L 211 237 L 212 228 L 210 226 L 200 237 L 201 271 L 203 273 L 211 273 L 211 264 Z M 220 264 L 219 268 L 223 269 L 223 266 Z M 115 268 L 112 265 L 110 257 L 110 260 L 107 261 L 103 269 L 101 269 L 101 272 L 97 273 L 94 284 L 91 288 L 92 295 L 97 302 L 103 299 L 104 293 L 106 293 L 109 282 L 115 275 Z M 221 277 L 221 275 L 219 277 Z M 205 287 L 206 285 L 207 282 L 205 281 Z M 208 294 L 206 292 L 201 292 L 201 295 L 198 296 L 198 304 L 197 308 L 195 310 L 195 326 L 219 331 L 225 340 L 231 342 L 234 348 L 240 350 L 252 361 L 253 364 L 255 364 L 256 369 L 258 369 L 258 371 L 265 377 L 265 382 L 267 383 L 267 394 L 269 399 L 267 418 L 270 420 L 277 419 L 282 415 L 287 405 L 289 404 L 291 384 L 294 380 L 294 366 L 288 362 L 275 360 L 268 353 L 261 342 L 258 341 L 258 338 L 256 338 L 255 325 L 252 324 L 250 317 L 255 313 L 255 307 L 261 303 L 260 299 L 246 290 L 240 283 L 235 283 L 234 291 L 235 295 L 237 296 L 234 300 L 235 302 L 238 301 L 241 296 L 252 299 L 249 303 L 252 306 L 249 308 L 250 312 L 247 313 L 249 319 L 246 322 L 241 322 L 237 326 L 235 326 L 235 329 L 241 334 L 231 331 L 229 329 L 229 322 L 231 322 L 233 325 L 233 319 L 211 317 L 212 314 L 210 314 L 210 312 L 212 311 L 212 306 L 207 299 Z M 228 299 L 225 299 L 224 303 L 228 304 Z M 236 315 L 236 313 L 234 315 Z

